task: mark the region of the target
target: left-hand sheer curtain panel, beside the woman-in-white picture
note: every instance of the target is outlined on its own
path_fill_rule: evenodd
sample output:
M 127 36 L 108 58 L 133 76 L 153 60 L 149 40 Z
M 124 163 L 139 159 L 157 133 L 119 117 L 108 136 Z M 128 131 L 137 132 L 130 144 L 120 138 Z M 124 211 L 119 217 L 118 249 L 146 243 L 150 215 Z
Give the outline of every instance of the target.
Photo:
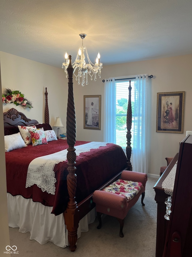
M 105 80 L 104 142 L 116 143 L 116 84 L 115 78 Z

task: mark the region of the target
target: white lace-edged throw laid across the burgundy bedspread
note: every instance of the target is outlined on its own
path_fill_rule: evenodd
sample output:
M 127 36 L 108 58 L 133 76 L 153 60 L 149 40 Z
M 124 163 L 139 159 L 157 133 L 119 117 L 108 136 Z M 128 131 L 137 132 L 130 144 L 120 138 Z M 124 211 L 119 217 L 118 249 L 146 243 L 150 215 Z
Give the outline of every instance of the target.
M 84 145 L 75 146 L 76 155 L 82 152 L 90 152 L 100 146 L 106 146 L 105 142 L 90 142 Z M 32 160 L 27 171 L 26 188 L 36 184 L 43 192 L 55 194 L 55 164 L 67 159 L 67 149 L 53 154 L 41 156 Z

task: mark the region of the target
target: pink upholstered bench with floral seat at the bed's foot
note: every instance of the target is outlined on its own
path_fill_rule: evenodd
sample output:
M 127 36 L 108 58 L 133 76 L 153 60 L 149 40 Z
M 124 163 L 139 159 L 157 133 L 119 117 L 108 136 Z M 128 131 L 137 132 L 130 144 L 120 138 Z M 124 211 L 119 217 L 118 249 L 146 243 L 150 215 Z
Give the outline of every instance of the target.
M 101 228 L 101 215 L 107 214 L 116 217 L 120 223 L 120 237 L 124 237 L 124 218 L 130 208 L 137 202 L 140 195 L 142 205 L 145 197 L 147 174 L 135 171 L 123 171 L 121 179 L 116 180 L 103 190 L 93 193 L 93 202 L 96 204 L 98 229 Z

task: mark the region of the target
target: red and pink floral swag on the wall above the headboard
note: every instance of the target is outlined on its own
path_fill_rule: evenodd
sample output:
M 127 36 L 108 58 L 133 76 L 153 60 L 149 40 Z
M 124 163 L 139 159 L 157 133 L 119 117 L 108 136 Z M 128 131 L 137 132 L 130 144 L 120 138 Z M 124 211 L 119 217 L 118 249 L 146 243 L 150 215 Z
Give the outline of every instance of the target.
M 3 104 L 14 103 L 16 106 L 22 105 L 23 108 L 33 108 L 32 102 L 25 98 L 25 95 L 19 92 L 19 90 L 11 90 L 9 88 L 4 90 L 2 94 Z

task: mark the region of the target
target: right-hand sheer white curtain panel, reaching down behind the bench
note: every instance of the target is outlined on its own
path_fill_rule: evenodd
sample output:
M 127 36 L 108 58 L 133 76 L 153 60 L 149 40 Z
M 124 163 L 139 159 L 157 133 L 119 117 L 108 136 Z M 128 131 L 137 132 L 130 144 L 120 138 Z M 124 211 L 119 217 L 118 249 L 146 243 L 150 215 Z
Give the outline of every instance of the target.
M 148 173 L 150 140 L 150 79 L 148 74 L 136 75 L 134 90 L 133 170 Z

